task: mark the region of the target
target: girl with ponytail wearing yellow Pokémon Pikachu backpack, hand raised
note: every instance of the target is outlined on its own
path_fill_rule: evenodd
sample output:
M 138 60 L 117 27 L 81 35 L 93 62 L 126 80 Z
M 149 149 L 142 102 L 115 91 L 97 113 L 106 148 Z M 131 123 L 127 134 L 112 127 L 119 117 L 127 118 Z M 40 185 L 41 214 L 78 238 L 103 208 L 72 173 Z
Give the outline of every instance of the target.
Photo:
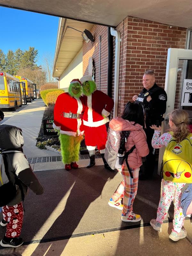
M 180 143 L 186 138 L 189 137 L 189 140 L 192 140 L 192 134 L 190 134 L 189 128 L 188 128 L 188 113 L 184 110 L 174 110 L 169 115 L 169 126 L 171 132 L 164 133 L 162 136 L 160 136 L 161 133 L 161 127 L 156 127 L 155 125 L 152 125 L 152 129 L 155 130 L 153 139 L 152 139 L 152 146 L 154 148 L 161 148 L 164 145 L 167 147 L 168 143 L 171 143 L 171 140 L 175 140 L 175 143 L 178 145 L 175 145 L 174 149 L 171 151 L 171 153 L 174 153 L 176 158 L 173 160 L 169 160 L 169 167 L 166 170 L 164 168 L 163 174 L 164 178 L 162 179 L 162 195 L 159 201 L 159 206 L 157 209 L 157 218 L 152 219 L 150 221 L 151 226 L 161 232 L 161 225 L 163 223 L 163 220 L 166 218 L 167 212 L 169 210 L 170 204 L 173 201 L 174 202 L 174 219 L 173 219 L 173 229 L 171 234 L 169 235 L 169 238 L 171 238 L 173 241 L 178 241 L 182 238 L 185 238 L 187 236 L 187 232 L 185 229 L 181 229 L 185 220 L 185 217 L 182 213 L 182 208 L 180 206 L 180 198 L 182 195 L 181 189 L 186 184 L 181 181 L 185 177 L 190 177 L 189 175 L 184 175 L 186 173 L 183 172 L 183 175 L 181 176 L 181 173 L 179 173 L 179 168 L 173 168 L 178 170 L 178 172 L 175 174 L 175 172 L 169 172 L 169 170 L 172 170 L 172 167 L 175 166 L 176 161 L 178 161 L 178 154 L 180 154 L 182 151 L 184 151 L 184 148 L 180 150 L 182 147 Z M 174 143 L 174 142 L 173 142 Z M 169 146 L 169 145 L 168 145 Z M 189 151 L 191 153 L 191 151 Z M 166 159 L 167 151 L 164 153 L 164 166 L 167 162 Z M 178 156 L 178 157 L 176 157 Z M 183 159 L 185 160 L 185 159 Z M 182 161 L 182 160 L 181 160 Z M 166 167 L 166 166 L 165 166 Z M 176 171 L 175 170 L 175 171 Z M 183 170 L 183 169 L 182 169 Z M 182 180 L 180 180 L 182 178 Z M 171 180 L 174 180 L 171 181 Z

